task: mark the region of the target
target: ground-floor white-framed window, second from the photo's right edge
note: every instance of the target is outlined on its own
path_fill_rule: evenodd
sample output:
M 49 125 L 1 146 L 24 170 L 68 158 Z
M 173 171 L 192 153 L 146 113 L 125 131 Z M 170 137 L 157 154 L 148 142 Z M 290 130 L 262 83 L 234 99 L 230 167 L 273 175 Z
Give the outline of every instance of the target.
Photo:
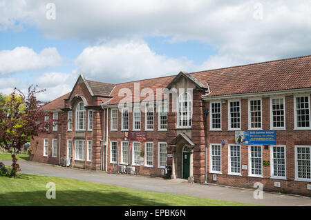
M 286 148 L 271 146 L 271 178 L 286 179 Z

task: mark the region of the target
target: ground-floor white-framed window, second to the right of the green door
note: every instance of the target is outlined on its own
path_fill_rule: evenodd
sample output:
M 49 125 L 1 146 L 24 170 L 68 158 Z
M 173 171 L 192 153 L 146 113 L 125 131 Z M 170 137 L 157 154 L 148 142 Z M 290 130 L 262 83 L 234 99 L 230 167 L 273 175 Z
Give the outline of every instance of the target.
M 228 174 L 241 175 L 241 145 L 229 144 Z

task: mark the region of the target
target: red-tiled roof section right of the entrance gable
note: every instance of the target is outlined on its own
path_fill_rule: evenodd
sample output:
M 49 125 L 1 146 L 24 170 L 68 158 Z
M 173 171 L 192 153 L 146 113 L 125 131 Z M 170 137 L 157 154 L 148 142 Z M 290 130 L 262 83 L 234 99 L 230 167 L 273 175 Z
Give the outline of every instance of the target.
M 202 83 L 209 83 L 211 94 L 208 96 L 311 88 L 311 56 L 194 72 L 191 75 Z

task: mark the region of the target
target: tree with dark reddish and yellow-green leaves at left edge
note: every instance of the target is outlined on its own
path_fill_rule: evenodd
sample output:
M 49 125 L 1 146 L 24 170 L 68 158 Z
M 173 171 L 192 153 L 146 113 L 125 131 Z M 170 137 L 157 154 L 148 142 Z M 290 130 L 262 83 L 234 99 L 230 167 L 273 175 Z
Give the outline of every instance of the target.
M 8 150 L 12 156 L 12 176 L 19 171 L 16 155 L 23 149 L 28 137 L 33 139 L 39 132 L 46 132 L 48 124 L 44 121 L 42 102 L 36 95 L 45 90 L 37 90 L 37 86 L 30 86 L 25 96 L 17 88 L 0 101 L 0 147 Z

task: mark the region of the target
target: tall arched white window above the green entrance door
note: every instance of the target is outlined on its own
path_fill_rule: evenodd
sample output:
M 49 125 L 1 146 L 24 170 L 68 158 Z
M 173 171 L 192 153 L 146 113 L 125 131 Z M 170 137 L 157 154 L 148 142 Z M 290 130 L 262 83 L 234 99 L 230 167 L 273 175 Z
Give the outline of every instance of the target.
M 178 97 L 178 127 L 191 127 L 192 118 L 192 98 L 187 92 L 180 94 Z

